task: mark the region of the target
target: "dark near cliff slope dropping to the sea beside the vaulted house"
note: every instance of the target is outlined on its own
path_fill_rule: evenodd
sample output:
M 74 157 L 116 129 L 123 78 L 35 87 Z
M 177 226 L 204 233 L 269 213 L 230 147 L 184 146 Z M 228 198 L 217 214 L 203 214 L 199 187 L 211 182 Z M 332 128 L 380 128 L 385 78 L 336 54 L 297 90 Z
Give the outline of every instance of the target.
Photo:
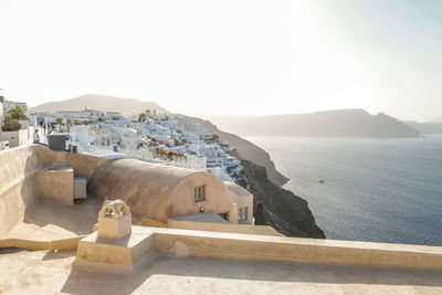
M 254 196 L 254 212 L 260 212 L 256 208 L 259 202 L 263 207 L 265 223 L 262 225 L 270 224 L 287 236 L 325 239 L 323 230 L 316 225 L 307 201 L 272 183 L 264 167 L 248 160 L 242 160 L 242 165 L 250 191 Z M 256 217 L 256 223 L 260 223 L 259 220 L 262 218 Z

